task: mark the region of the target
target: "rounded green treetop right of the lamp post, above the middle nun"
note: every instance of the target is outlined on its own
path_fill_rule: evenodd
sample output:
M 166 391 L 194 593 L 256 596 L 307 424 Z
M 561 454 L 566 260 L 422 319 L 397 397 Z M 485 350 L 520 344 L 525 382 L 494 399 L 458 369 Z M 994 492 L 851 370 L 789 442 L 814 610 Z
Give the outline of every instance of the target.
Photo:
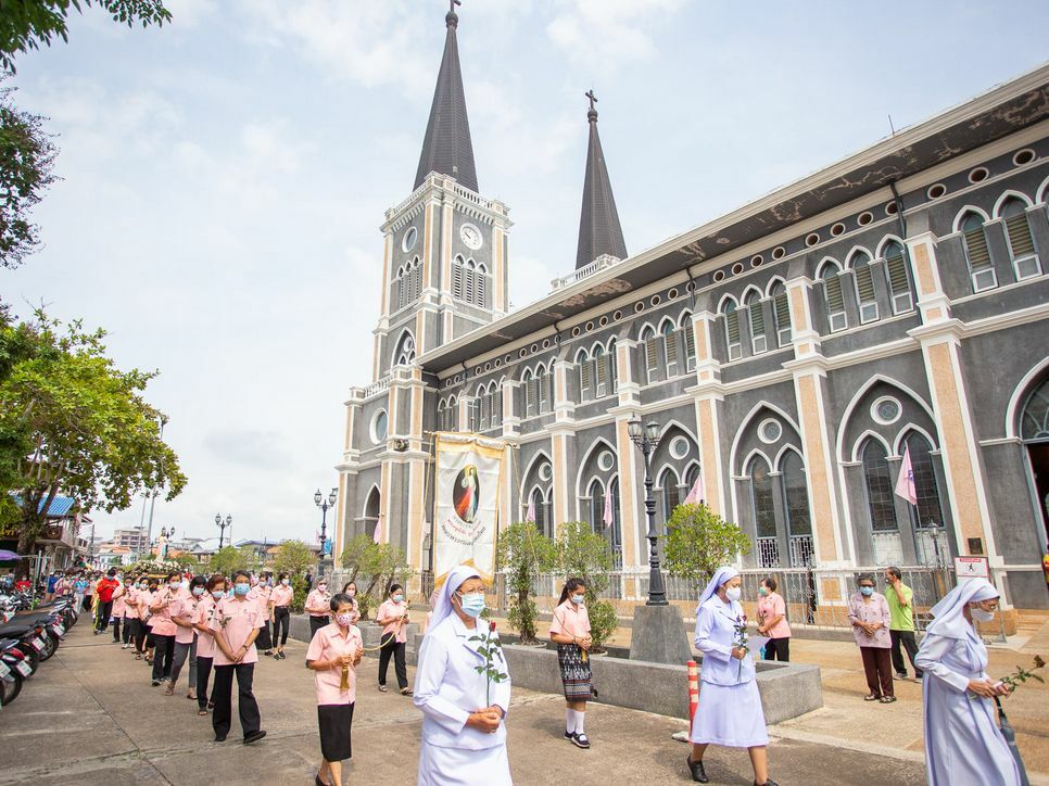
M 750 538 L 706 505 L 679 505 L 667 522 L 663 563 L 671 575 L 708 582 L 721 566 L 750 550 Z

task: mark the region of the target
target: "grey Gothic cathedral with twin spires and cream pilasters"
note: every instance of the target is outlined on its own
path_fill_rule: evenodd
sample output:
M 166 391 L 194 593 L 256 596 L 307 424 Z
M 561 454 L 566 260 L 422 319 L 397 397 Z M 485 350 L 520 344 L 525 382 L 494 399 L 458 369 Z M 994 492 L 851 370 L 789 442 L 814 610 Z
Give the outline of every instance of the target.
M 821 605 L 900 565 L 1049 607 L 1049 66 L 633 254 L 590 93 L 576 270 L 510 312 L 513 223 L 482 195 L 445 23 L 345 402 L 337 555 L 365 533 L 431 570 L 433 435 L 478 433 L 505 445 L 500 521 L 589 522 L 615 597 L 643 603 L 641 418 L 657 530 L 700 480 L 754 543 L 743 568 L 808 571 Z

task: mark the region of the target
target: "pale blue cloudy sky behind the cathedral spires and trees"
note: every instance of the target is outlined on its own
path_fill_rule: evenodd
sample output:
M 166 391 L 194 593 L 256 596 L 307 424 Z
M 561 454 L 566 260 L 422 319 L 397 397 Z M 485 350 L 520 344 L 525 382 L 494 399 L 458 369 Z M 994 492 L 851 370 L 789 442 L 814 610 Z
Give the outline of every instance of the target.
M 189 476 L 153 527 L 314 541 L 343 402 L 369 383 L 383 212 L 412 192 L 446 0 L 167 0 L 98 9 L 17 59 L 62 178 L 42 248 L 0 269 L 25 314 L 109 331 Z M 1040 65 L 1049 4 L 465 0 L 480 191 L 510 208 L 510 301 L 571 272 L 596 91 L 631 253 Z M 98 535 L 142 507 L 93 515 Z M 332 516 L 329 514 L 329 524 Z M 90 534 L 90 533 L 88 533 Z M 228 536 L 227 532 L 227 536 Z

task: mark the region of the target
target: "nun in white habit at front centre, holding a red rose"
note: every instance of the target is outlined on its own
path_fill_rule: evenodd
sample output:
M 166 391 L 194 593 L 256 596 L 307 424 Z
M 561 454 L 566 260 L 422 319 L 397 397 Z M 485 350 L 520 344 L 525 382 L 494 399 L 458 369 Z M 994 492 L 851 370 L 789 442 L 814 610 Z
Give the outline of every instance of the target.
M 509 679 L 488 684 L 477 672 L 484 658 L 475 635 L 486 635 L 478 617 L 484 583 L 469 566 L 452 569 L 433 608 L 419 649 L 415 706 L 422 710 L 418 786 L 513 784 L 506 756 Z M 497 634 L 492 634 L 497 636 Z M 506 663 L 496 665 L 506 674 Z M 488 692 L 488 696 L 485 696 Z

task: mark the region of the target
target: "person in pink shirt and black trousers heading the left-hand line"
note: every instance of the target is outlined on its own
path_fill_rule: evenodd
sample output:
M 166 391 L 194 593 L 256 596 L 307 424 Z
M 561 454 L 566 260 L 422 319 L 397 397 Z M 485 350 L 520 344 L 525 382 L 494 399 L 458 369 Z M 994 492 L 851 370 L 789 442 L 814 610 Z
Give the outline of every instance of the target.
M 237 675 L 240 725 L 244 731 L 244 745 L 250 745 L 266 736 L 262 731 L 258 703 L 252 694 L 252 680 L 258 652 L 255 638 L 263 625 L 258 604 L 248 599 L 251 592 L 251 575 L 248 571 L 233 573 L 233 596 L 218 601 L 218 609 L 211 627 L 215 634 L 215 687 L 212 689 L 212 727 L 215 741 L 225 741 L 232 722 L 233 674 Z

